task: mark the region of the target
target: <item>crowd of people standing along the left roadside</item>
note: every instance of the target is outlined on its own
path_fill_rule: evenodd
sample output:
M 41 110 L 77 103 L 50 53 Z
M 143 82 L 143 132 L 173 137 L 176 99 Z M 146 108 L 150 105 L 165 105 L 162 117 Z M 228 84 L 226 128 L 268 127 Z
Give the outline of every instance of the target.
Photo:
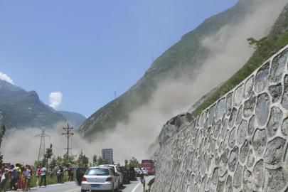
M 73 168 L 67 170 L 68 181 L 73 179 Z M 6 191 L 7 183 L 9 182 L 9 190 L 11 191 L 28 191 L 31 188 L 31 178 L 35 175 L 36 186 L 46 186 L 46 167 L 37 166 L 36 169 L 31 169 L 30 165 L 23 166 L 21 164 L 4 164 L 0 170 L 0 191 Z M 57 169 L 58 183 L 63 183 L 64 169 L 59 166 Z

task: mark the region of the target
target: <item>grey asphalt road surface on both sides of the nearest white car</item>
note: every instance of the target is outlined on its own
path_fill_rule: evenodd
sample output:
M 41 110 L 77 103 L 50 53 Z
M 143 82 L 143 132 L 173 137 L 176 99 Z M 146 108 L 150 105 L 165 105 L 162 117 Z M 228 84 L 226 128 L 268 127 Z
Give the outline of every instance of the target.
M 137 178 L 137 181 L 131 181 L 130 184 L 124 185 L 119 192 L 143 192 L 142 183 Z M 77 186 L 75 182 L 53 184 L 46 187 L 31 188 L 28 191 L 35 192 L 81 192 L 80 186 Z

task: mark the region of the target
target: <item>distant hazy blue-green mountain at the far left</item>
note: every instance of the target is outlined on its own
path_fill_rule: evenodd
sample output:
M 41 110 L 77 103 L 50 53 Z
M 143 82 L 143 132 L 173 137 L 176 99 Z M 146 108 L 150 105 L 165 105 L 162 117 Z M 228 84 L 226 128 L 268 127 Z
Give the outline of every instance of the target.
M 0 124 L 6 124 L 7 129 L 23 129 L 52 127 L 58 122 L 66 122 L 66 119 L 41 102 L 35 91 L 27 92 L 0 80 Z

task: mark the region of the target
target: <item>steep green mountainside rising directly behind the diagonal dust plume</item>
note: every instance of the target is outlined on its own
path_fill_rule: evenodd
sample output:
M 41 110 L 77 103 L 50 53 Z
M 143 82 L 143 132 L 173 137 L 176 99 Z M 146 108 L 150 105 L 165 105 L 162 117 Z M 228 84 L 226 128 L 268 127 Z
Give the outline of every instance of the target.
M 86 119 L 80 127 L 82 136 L 89 139 L 99 132 L 113 129 L 117 122 L 124 122 L 129 112 L 149 100 L 158 82 L 178 78 L 183 70 L 189 71 L 193 78 L 208 55 L 208 50 L 201 47 L 203 38 L 217 33 L 223 26 L 239 23 L 252 11 L 254 2 L 240 0 L 233 8 L 206 19 L 198 28 L 184 35 L 152 63 L 136 85 Z

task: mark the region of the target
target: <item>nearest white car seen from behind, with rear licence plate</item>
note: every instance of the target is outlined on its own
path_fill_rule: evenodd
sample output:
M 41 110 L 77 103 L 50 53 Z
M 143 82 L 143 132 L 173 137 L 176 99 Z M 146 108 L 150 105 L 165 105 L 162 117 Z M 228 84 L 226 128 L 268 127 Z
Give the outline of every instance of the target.
M 81 192 L 119 191 L 117 175 L 114 169 L 107 166 L 90 167 L 82 177 Z

